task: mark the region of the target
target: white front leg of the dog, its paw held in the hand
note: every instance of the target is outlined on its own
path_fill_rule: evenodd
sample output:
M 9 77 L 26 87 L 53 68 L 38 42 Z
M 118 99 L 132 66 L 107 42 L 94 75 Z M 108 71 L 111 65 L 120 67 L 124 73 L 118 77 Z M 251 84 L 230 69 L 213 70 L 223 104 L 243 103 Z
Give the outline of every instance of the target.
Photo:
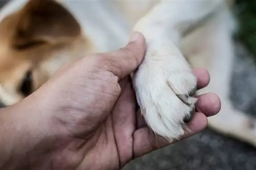
M 180 52 L 180 40 L 193 24 L 214 12 L 219 1 L 161 2 L 141 18 L 134 31 L 147 44 L 134 74 L 137 101 L 147 125 L 168 141 L 184 134 L 194 111 L 197 80 Z

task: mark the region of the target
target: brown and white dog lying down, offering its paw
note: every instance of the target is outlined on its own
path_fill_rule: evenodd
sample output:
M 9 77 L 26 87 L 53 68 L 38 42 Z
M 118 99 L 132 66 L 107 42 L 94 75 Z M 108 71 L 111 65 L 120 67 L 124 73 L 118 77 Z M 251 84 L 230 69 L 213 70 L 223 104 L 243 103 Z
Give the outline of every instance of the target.
M 228 98 L 236 22 L 230 1 L 11 1 L 0 11 L 0 100 L 14 104 L 44 84 L 62 64 L 126 44 L 143 33 L 145 59 L 133 78 L 138 104 L 153 132 L 184 133 L 196 99 L 193 67 L 205 67 L 221 112 L 209 126 L 256 147 L 255 119 Z M 185 58 L 185 57 L 186 58 Z

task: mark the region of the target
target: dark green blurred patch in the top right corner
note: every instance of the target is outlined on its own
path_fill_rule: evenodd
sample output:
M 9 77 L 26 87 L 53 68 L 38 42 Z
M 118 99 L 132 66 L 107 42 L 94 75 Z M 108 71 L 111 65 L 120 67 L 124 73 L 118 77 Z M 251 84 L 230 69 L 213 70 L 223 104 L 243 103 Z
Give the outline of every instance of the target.
M 237 37 L 256 59 L 256 0 L 237 0 L 236 4 L 240 27 Z

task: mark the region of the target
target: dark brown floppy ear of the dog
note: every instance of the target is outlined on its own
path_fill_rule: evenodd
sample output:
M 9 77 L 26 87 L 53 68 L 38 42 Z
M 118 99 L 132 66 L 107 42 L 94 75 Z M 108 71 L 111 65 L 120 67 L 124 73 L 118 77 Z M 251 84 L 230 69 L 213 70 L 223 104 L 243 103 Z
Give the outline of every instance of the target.
M 55 0 L 30 0 L 19 12 L 13 45 L 58 43 L 80 34 L 73 15 Z

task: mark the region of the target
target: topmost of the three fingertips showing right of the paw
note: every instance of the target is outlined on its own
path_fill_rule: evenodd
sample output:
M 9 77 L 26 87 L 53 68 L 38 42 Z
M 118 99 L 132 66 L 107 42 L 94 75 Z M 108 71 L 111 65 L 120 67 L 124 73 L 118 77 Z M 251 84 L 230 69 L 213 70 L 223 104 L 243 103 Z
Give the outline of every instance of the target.
M 209 72 L 204 68 L 195 68 L 194 74 L 197 77 L 197 88 L 201 89 L 207 86 L 210 82 Z

